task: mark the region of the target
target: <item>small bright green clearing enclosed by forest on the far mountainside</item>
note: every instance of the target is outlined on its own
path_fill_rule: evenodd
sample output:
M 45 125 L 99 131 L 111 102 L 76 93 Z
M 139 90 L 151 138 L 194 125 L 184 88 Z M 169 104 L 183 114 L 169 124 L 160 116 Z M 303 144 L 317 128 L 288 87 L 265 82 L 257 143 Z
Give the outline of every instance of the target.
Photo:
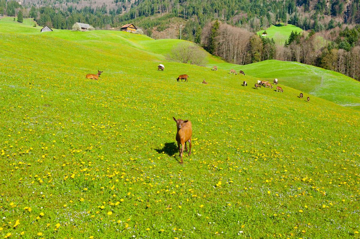
M 285 26 L 284 24 L 280 23 L 276 25 L 271 25 L 266 30 L 258 31 L 256 34 L 262 34 L 264 31 L 266 31 L 267 33 L 267 36 L 264 37 L 273 38 L 276 44 L 283 45 L 285 43 L 285 40 L 289 38 L 292 31 L 302 32 L 302 29 L 292 24 L 287 24 Z

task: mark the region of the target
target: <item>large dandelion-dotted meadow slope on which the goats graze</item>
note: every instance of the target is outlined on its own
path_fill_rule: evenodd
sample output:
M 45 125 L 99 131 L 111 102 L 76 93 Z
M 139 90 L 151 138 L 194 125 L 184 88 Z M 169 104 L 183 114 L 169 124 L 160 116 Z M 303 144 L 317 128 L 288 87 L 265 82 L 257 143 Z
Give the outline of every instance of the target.
M 6 19 L 1 238 L 360 238 L 359 111 L 166 62 L 180 40 Z

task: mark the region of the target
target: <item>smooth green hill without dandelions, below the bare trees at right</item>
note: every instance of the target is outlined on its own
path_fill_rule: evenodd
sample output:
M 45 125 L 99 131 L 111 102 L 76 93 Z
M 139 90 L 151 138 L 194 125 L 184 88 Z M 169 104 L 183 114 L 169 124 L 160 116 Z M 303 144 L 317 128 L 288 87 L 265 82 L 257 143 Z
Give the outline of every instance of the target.
M 208 65 L 211 67 L 212 65 Z M 221 69 L 243 70 L 245 74 L 284 84 L 336 104 L 360 109 L 360 82 L 338 72 L 299 62 L 267 60 L 249 65 L 217 64 Z

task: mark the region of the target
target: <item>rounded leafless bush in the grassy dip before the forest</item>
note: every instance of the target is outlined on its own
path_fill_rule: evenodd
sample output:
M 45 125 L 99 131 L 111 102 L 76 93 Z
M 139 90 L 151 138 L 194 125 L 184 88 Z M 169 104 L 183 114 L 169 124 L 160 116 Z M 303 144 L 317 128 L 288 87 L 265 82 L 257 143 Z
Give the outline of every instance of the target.
M 204 66 L 206 64 L 205 52 L 200 47 L 188 42 L 180 43 L 177 47 L 172 49 L 168 58 L 176 62 L 198 66 Z

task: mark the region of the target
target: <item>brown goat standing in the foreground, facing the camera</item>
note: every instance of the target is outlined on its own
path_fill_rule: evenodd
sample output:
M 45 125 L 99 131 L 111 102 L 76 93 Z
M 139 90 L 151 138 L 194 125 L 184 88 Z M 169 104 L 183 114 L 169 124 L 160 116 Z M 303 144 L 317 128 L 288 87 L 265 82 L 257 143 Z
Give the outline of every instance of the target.
M 188 151 L 188 148 L 186 146 L 186 142 L 189 142 L 189 154 L 191 154 L 191 136 L 193 134 L 193 129 L 191 122 L 189 120 L 176 120 L 175 117 L 172 117 L 174 121 L 176 122 L 176 142 L 177 147 L 179 148 L 179 154 L 180 154 L 180 163 L 183 164 L 183 152 L 184 152 L 184 144 L 185 144 L 185 152 Z M 180 149 L 181 145 L 181 149 Z

